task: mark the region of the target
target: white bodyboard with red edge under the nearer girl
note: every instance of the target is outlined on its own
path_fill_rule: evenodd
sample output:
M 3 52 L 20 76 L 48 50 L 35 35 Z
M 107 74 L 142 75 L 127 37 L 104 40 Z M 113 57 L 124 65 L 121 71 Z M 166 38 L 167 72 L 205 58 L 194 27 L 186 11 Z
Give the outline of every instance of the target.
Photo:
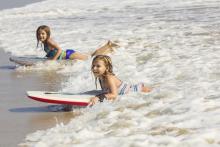
M 91 97 L 99 94 L 100 91 L 88 91 L 84 93 L 61 93 L 52 91 L 27 91 L 27 96 L 33 100 L 76 106 L 87 106 Z

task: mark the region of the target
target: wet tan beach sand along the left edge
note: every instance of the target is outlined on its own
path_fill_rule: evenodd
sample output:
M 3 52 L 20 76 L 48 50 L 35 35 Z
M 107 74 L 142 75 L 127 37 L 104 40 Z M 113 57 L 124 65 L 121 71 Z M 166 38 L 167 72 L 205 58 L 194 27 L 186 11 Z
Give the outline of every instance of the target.
M 9 0 L 1 9 L 18 7 L 39 0 Z M 18 4 L 16 2 L 19 2 Z M 4 3 L 8 3 L 4 4 Z M 13 4 L 10 4 L 13 3 Z M 2 8 L 2 6 L 4 6 Z M 54 71 L 21 72 L 9 61 L 10 54 L 0 48 L 0 146 L 14 147 L 23 142 L 28 133 L 67 123 L 71 112 L 52 112 L 46 103 L 27 98 L 27 90 L 59 90 L 65 77 Z M 58 78 L 57 78 L 58 77 Z M 51 106 L 51 105 L 50 105 Z

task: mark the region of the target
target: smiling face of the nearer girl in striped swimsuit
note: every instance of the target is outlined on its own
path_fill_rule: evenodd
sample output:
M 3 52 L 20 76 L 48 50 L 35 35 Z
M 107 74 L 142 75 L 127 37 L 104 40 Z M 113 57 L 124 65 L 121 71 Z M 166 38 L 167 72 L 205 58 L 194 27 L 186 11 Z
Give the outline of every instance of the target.
M 105 63 L 102 60 L 96 60 L 92 64 L 92 72 L 96 77 L 101 77 L 106 72 Z

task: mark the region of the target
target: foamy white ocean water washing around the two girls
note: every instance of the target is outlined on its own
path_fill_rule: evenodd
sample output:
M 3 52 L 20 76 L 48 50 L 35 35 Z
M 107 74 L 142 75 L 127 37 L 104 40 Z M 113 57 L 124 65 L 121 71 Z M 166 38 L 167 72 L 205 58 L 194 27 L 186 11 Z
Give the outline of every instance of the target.
M 62 48 L 88 53 L 117 42 L 115 74 L 153 91 L 74 109 L 79 115 L 69 124 L 27 134 L 20 146 L 220 145 L 220 1 L 46 0 L 0 11 L 0 46 L 15 56 L 43 56 L 35 39 L 42 24 Z M 60 91 L 81 92 L 95 89 L 90 64 L 18 70 L 52 68 L 70 75 Z

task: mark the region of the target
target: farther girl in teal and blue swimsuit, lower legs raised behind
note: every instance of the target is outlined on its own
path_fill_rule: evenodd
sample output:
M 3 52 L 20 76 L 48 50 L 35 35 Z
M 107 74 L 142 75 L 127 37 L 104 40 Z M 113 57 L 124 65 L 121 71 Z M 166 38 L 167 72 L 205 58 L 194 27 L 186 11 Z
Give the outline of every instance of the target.
M 36 31 L 37 37 L 37 47 L 39 42 L 43 44 L 43 49 L 46 52 L 46 57 L 51 60 L 61 60 L 61 59 L 78 59 L 78 60 L 87 60 L 87 54 L 82 54 L 74 49 L 62 50 L 61 47 L 50 37 L 51 31 L 50 28 L 46 25 L 39 26 Z M 117 44 L 108 41 L 104 46 L 96 49 L 91 56 L 99 54 L 108 54 L 113 52 L 113 47 L 119 47 Z

